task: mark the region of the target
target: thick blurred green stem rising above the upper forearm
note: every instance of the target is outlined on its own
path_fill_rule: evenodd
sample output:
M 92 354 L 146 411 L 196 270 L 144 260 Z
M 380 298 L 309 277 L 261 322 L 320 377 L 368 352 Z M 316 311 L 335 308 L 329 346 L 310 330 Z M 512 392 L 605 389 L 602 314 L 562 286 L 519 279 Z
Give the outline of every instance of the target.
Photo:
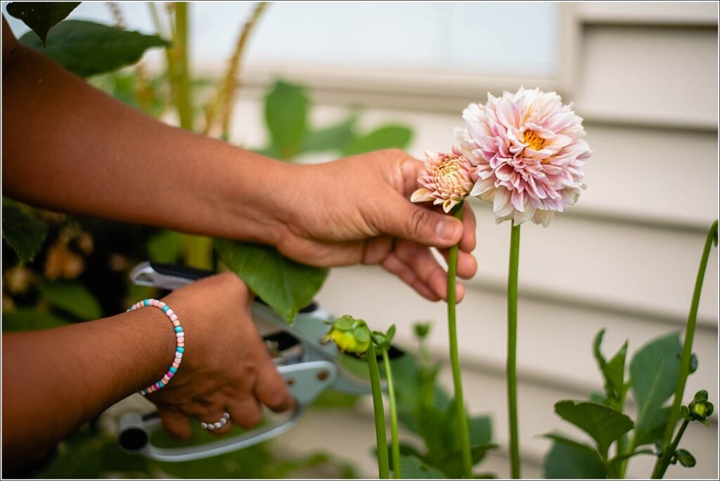
M 180 126 L 192 130 L 192 107 L 190 99 L 190 68 L 188 61 L 188 4 L 175 2 L 175 36 L 172 54 L 174 57 L 175 104 L 180 117 Z

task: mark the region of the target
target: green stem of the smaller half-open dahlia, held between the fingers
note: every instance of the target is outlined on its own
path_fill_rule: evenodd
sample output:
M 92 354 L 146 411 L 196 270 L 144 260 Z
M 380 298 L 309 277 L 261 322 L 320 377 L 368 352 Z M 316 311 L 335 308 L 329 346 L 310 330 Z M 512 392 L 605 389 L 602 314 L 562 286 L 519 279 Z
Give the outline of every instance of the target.
M 459 204 L 454 211 L 456 219 L 462 220 L 462 207 Z M 464 477 L 472 478 L 472 454 L 470 454 L 470 435 L 467 431 L 467 418 L 462 395 L 462 377 L 460 375 L 460 356 L 457 349 L 457 323 L 455 317 L 455 285 L 457 274 L 457 246 L 452 246 L 448 253 L 448 336 L 450 338 L 450 364 L 452 367 L 452 380 L 455 389 L 455 410 L 458 423 L 458 434 L 462 449 L 462 471 Z

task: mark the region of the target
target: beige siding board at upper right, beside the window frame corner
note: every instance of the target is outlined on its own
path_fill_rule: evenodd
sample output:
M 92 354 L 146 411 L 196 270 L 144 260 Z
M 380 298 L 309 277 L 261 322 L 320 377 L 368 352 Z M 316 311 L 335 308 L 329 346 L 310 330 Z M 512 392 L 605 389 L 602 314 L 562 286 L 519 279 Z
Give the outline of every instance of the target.
M 585 27 L 583 116 L 717 128 L 717 30 Z

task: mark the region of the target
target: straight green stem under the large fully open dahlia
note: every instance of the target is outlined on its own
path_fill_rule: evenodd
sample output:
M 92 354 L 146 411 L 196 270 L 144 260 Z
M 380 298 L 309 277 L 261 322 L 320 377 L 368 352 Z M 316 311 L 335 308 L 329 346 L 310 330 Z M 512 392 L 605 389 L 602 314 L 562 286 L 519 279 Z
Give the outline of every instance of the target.
M 518 443 L 518 263 L 520 258 L 520 226 L 510 231 L 510 266 L 508 269 L 508 416 L 510 419 L 510 473 L 520 477 L 520 447 Z

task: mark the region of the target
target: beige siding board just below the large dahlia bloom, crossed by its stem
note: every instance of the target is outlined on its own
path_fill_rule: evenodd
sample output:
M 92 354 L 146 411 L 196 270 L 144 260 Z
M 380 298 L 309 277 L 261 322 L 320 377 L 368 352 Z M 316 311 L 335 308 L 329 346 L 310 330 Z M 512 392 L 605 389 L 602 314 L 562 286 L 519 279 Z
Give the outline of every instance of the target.
M 480 279 L 504 283 L 510 225 L 494 225 L 492 212 L 477 208 Z M 549 228 L 522 230 L 521 292 L 539 289 L 684 318 L 693 294 L 705 235 L 608 225 L 557 215 Z M 717 324 L 717 250 L 708 263 L 699 314 Z M 471 281 L 472 283 L 472 281 Z

